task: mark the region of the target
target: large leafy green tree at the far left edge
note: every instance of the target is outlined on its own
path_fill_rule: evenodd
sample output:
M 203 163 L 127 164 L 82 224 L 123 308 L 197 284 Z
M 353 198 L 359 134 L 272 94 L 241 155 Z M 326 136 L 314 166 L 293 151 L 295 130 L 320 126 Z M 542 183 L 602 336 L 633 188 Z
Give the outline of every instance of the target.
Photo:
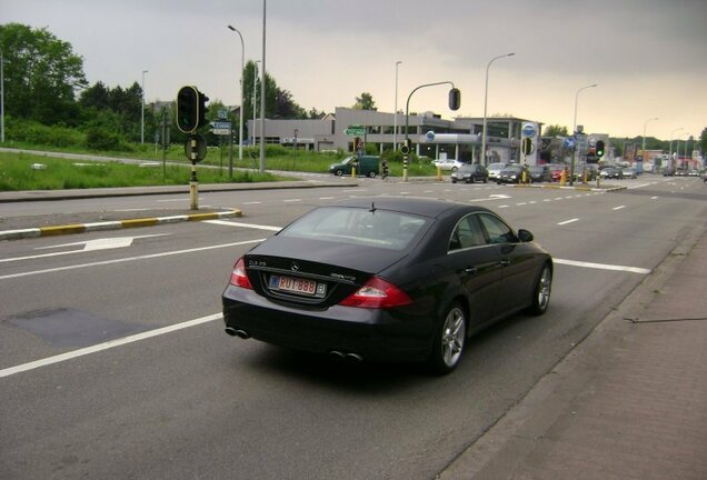
M 4 57 L 4 106 L 13 117 L 46 124 L 77 124 L 74 89 L 87 86 L 83 60 L 46 28 L 0 26 Z

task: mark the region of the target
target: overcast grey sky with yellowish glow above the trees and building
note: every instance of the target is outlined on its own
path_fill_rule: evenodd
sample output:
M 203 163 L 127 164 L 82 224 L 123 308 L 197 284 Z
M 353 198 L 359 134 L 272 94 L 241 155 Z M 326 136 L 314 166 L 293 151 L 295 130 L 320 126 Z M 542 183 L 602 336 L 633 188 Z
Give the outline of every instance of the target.
M 512 114 L 613 137 L 669 139 L 707 127 L 707 0 L 267 0 L 266 68 L 305 109 L 370 92 L 379 111 Z M 83 58 L 89 82 L 170 100 L 185 84 L 240 103 L 241 46 L 261 59 L 262 0 L 0 0 L 0 23 L 46 27 Z M 683 128 L 683 130 L 677 130 Z

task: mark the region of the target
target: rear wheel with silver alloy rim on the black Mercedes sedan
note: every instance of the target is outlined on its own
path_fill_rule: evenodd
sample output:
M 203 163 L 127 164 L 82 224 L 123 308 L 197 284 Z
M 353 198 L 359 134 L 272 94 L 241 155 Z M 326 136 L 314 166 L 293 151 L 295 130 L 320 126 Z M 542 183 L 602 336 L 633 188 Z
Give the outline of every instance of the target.
M 467 344 L 467 314 L 458 302 L 454 302 L 441 318 L 435 332 L 432 352 L 428 366 L 435 374 L 454 371 L 461 360 Z

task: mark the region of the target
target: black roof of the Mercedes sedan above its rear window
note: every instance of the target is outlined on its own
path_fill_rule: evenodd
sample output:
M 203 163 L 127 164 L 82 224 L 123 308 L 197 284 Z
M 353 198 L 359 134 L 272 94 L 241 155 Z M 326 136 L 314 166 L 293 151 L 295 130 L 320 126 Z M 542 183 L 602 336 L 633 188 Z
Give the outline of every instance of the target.
M 332 203 L 332 207 L 377 208 L 402 213 L 421 214 L 425 217 L 439 217 L 442 213 L 454 210 L 467 210 L 469 212 L 490 211 L 484 207 L 469 206 L 451 200 L 394 196 L 351 197 Z

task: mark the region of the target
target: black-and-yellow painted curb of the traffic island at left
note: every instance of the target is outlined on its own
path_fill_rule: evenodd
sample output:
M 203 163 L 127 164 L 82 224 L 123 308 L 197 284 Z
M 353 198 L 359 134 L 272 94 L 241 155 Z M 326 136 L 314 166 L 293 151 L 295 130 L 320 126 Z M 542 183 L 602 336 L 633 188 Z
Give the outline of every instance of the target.
M 190 213 L 183 216 L 171 217 L 145 217 L 127 220 L 114 220 L 92 223 L 69 223 L 62 226 L 39 227 L 21 230 L 0 231 L 0 240 L 19 240 L 26 238 L 54 237 L 71 233 L 83 233 L 98 230 L 119 230 L 127 228 L 153 227 L 162 223 L 178 223 L 183 221 L 205 221 L 217 220 L 222 218 L 241 217 L 242 211 L 239 209 L 230 209 L 219 212 L 209 213 Z

